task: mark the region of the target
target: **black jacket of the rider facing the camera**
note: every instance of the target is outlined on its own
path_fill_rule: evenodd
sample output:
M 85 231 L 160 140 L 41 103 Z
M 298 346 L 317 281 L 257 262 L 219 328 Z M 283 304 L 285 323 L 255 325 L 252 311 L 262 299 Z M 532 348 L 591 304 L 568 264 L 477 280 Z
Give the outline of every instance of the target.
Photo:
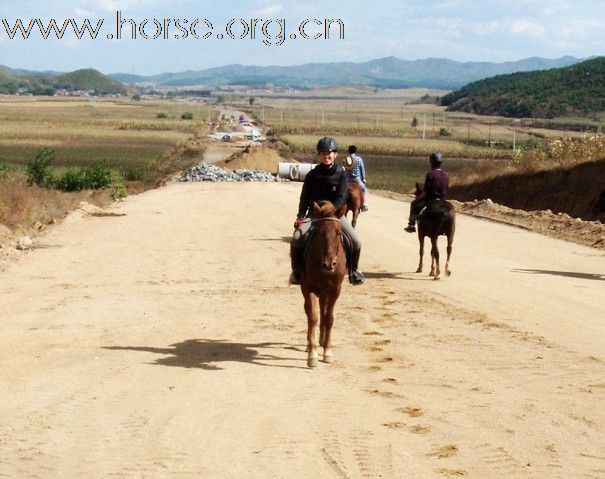
M 330 168 L 319 163 L 313 168 L 303 183 L 298 203 L 298 217 L 302 218 L 314 201 L 331 201 L 338 209 L 347 201 L 349 184 L 345 169 L 334 163 Z

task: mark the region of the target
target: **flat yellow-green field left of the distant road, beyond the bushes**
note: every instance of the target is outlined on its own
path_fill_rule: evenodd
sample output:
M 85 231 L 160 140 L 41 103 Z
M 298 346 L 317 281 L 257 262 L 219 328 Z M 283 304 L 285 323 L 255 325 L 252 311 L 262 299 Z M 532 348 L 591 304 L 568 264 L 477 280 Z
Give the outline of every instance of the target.
M 204 104 L 177 102 L 0 97 L 0 164 L 24 165 L 46 146 L 57 152 L 57 165 L 148 165 L 185 143 L 209 111 Z M 193 120 L 182 120 L 184 112 Z

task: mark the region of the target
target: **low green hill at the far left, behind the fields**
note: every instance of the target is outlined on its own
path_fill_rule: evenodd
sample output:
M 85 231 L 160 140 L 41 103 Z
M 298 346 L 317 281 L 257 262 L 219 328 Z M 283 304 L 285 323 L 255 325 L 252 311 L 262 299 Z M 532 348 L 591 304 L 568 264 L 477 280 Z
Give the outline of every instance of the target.
M 0 66 L 0 93 L 18 92 L 52 95 L 57 90 L 93 91 L 100 95 L 126 94 L 129 87 L 97 70 L 84 69 L 71 73 L 32 72 Z

